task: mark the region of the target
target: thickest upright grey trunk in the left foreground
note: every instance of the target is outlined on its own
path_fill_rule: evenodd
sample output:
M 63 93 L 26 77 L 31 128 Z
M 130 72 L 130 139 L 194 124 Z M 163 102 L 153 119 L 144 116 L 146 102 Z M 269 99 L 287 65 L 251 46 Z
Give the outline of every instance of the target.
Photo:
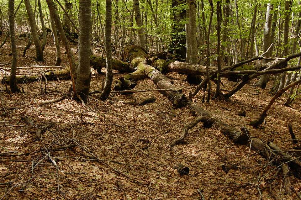
M 79 1 L 78 66 L 75 90 L 87 103 L 91 82 L 91 0 Z

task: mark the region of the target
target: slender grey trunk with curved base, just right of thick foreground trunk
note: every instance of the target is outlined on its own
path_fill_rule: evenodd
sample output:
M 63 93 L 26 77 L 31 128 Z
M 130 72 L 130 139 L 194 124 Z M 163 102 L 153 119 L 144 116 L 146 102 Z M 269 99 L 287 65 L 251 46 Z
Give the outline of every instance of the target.
M 113 67 L 112 67 L 112 1 L 106 0 L 106 29 L 105 29 L 105 45 L 106 45 L 106 82 L 103 91 L 100 94 L 101 99 L 107 99 L 113 82 Z

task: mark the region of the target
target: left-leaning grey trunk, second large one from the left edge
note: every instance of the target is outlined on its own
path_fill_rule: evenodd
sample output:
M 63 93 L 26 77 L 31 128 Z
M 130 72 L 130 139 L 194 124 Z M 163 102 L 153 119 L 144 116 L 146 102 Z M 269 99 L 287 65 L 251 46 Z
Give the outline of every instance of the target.
M 43 50 L 40 45 L 39 36 L 38 36 L 36 23 L 35 23 L 35 19 L 34 19 L 34 14 L 32 12 L 32 8 L 31 8 L 29 0 L 24 0 L 24 4 L 25 4 L 26 10 L 27 10 L 30 30 L 31 30 L 31 34 L 32 34 L 32 37 L 34 40 L 36 60 L 44 61 Z

